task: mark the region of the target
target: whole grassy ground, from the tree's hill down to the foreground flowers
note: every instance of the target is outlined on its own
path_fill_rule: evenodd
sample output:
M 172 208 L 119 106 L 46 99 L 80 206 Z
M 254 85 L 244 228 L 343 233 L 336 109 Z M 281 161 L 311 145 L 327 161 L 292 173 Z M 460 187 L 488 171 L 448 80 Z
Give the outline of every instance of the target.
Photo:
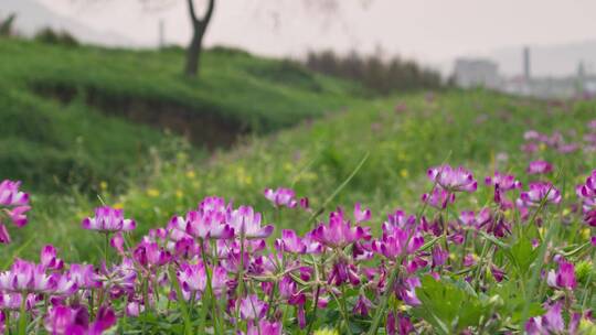
M 28 43 L 0 44 L 13 60 L 0 66 L 0 172 L 24 180 L 33 207 L 26 226 L 7 225 L 4 268 L 14 264 L 1 290 L 3 303 L 30 292 L 39 303 L 30 313 L 20 304 L 19 321 L 19 306 L 1 311 L 8 328 L 33 333 L 52 320 L 88 327 L 76 307 L 94 326 L 124 334 L 281 334 L 283 326 L 287 334 L 377 335 L 393 333 L 392 318 L 417 334 L 563 334 L 565 325 L 573 333 L 573 320 L 581 320 L 578 333 L 594 334 L 582 313 L 596 307 L 596 212 L 581 206 L 594 202 L 596 174 L 586 177 L 596 168 L 596 101 L 483 90 L 364 98 L 354 85 L 223 50 L 207 54 L 205 79 L 194 82 L 172 65 L 180 51 L 75 53 Z M 19 51 L 28 66 L 15 61 Z M 198 129 L 202 138 L 185 132 Z M 202 150 L 205 139 L 231 148 Z M 528 172 L 536 160 L 553 171 Z M 427 169 L 441 163 L 473 179 L 440 169 L 440 182 L 430 181 Z M 485 186 L 494 171 L 514 174 L 523 188 Z M 264 190 L 278 186 L 308 197 L 310 209 L 274 207 Z M 426 206 L 421 197 L 432 190 L 457 201 Z M 246 207 L 223 206 L 168 225 L 213 195 L 234 208 L 254 206 L 263 226 Z M 371 209 L 370 220 L 366 212 L 352 215 L 356 203 Z M 102 217 L 83 229 L 102 205 L 124 208 L 136 229 L 115 234 L 120 227 L 103 226 Z M 326 224 L 338 206 L 345 216 Z M 18 223 L 22 207 L 14 208 L 2 219 Z M 381 229 L 397 208 L 416 217 Z M 283 228 L 295 233 L 273 244 Z M 190 235 L 174 241 L 184 235 L 177 229 Z M 206 230 L 227 234 L 215 240 Z M 40 258 L 47 244 L 65 269 L 55 269 L 52 247 Z M 40 259 L 41 270 L 17 257 Z M 74 262 L 94 263 L 98 275 L 77 287 L 86 274 Z M 52 294 L 72 305 L 49 304 Z M 317 309 L 319 299 L 324 307 Z M 75 314 L 67 321 L 58 312 Z

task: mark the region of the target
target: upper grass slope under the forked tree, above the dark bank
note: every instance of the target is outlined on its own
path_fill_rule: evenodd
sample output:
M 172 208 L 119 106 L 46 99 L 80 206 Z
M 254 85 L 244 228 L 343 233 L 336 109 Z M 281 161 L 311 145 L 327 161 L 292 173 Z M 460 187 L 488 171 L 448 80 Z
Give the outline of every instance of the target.
M 231 122 L 275 130 L 297 119 L 350 106 L 364 91 L 289 62 L 216 48 L 203 54 L 201 76 L 182 75 L 182 50 L 130 51 L 67 47 L 26 41 L 0 43 L 7 82 L 42 88 L 95 91 L 184 106 Z

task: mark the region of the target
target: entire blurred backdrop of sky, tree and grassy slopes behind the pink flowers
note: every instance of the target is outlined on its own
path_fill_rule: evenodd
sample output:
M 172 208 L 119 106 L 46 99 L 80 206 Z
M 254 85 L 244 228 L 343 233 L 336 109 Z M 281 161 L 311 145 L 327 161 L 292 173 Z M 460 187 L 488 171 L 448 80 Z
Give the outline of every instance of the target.
M 0 0 L 0 177 L 33 194 L 31 234 L 51 227 L 49 241 L 79 251 L 88 239 L 67 236 L 102 202 L 139 234 L 201 196 L 266 206 L 263 190 L 281 185 L 313 206 L 413 208 L 448 152 L 521 171 L 526 129 L 584 136 L 595 12 L 592 0 Z

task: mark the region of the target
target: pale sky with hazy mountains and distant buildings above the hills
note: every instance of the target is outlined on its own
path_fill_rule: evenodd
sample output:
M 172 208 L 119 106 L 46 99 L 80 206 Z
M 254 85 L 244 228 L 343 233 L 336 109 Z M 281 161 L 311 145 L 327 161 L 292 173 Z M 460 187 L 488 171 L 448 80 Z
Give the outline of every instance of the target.
M 46 28 L 111 47 L 187 46 L 183 0 L 3 0 L 17 34 Z M 203 13 L 207 1 L 196 2 Z M 203 44 L 263 56 L 376 56 L 419 62 L 461 86 L 481 82 L 520 94 L 568 97 L 583 80 L 593 93 L 596 4 L 561 1 L 228 0 L 220 1 Z M 309 58 L 309 55 L 311 56 Z M 308 62 L 311 60 L 311 62 Z M 578 78 L 579 77 L 579 78 Z

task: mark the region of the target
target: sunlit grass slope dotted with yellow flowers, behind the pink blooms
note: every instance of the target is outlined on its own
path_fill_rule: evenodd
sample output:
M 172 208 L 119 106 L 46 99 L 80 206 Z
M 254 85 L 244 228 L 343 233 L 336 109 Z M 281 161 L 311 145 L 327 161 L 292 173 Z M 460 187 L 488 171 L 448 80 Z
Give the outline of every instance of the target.
M 406 110 L 397 111 L 397 105 L 405 105 Z M 275 213 L 262 195 L 265 187 L 295 187 L 318 208 L 370 153 L 355 177 L 327 209 L 362 202 L 373 209 L 373 225 L 379 226 L 392 209 L 418 208 L 421 194 L 432 187 L 426 169 L 446 158 L 450 164 L 471 169 L 480 183 L 493 169 L 511 171 L 528 182 L 522 172 L 531 158 L 520 151 L 523 132 L 575 131 L 579 138 L 595 110 L 594 101 L 553 107 L 483 91 L 453 91 L 438 95 L 433 101 L 423 95 L 374 100 L 312 123 L 255 138 L 203 164 L 195 164 L 188 153 L 180 151 L 174 160 L 156 160 L 145 183 L 130 183 L 124 195 L 103 193 L 102 197 L 110 205 L 123 206 L 128 217 L 137 219 L 137 236 L 151 227 L 164 226 L 172 215 L 183 214 L 205 195 L 224 196 L 236 205 L 254 205 L 273 221 Z M 497 159 L 502 153 L 508 155 L 507 161 Z M 534 158 L 565 169 L 566 175 L 573 177 L 567 183 L 571 196 L 571 187 L 596 166 L 594 154 L 561 155 L 546 149 Z M 76 197 L 68 201 L 71 204 L 54 206 L 49 212 L 46 199 L 40 199 L 38 214 L 22 231 L 24 239 L 36 229 L 55 227 L 52 234 L 38 238 L 36 246 L 41 241 L 53 242 L 74 259 L 93 258 L 93 246 L 99 246 L 102 239 L 78 225 L 99 202 Z M 288 212 L 285 217 L 276 223 L 279 227 L 291 226 L 299 231 L 310 228 L 306 214 Z

